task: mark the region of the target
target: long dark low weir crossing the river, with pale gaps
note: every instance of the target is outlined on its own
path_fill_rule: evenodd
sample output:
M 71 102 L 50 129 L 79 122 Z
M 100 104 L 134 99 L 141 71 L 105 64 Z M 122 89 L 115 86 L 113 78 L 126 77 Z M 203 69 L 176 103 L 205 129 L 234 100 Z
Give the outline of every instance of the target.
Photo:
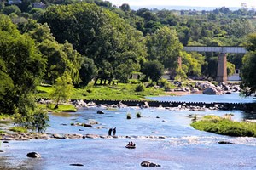
M 199 106 L 216 107 L 222 110 L 241 110 L 256 111 L 256 103 L 222 103 L 222 102 L 179 102 L 179 101 L 146 101 L 146 100 L 105 100 L 105 99 L 84 99 L 85 103 L 94 102 L 96 105 L 120 105 L 140 106 L 140 107 L 178 107 L 180 106 Z

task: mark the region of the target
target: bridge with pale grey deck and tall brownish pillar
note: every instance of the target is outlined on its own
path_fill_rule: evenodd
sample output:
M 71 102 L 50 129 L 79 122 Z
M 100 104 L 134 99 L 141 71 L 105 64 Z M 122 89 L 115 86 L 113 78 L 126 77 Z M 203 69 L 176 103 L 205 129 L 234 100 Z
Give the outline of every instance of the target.
M 187 46 L 183 48 L 187 52 L 215 52 L 218 54 L 217 82 L 227 82 L 227 53 L 246 54 L 247 50 L 243 47 L 206 47 L 206 46 Z

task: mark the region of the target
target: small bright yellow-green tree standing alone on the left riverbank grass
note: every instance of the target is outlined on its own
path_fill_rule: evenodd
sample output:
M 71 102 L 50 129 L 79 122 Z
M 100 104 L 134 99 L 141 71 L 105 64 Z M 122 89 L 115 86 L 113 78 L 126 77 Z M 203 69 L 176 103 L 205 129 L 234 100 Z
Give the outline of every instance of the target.
M 73 92 L 72 78 L 67 72 L 64 72 L 61 77 L 56 79 L 52 88 L 53 91 L 51 92 L 50 97 L 51 99 L 55 100 L 55 109 L 57 109 L 61 101 L 66 102 L 68 99 L 70 99 Z

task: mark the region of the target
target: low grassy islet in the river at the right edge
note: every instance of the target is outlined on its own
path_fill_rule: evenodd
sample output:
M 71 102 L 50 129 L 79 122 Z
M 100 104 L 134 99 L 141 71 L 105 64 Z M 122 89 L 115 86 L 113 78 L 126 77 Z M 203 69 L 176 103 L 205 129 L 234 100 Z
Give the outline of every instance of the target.
M 235 122 L 230 116 L 204 116 L 201 121 L 191 124 L 195 129 L 229 136 L 256 137 L 256 123 Z

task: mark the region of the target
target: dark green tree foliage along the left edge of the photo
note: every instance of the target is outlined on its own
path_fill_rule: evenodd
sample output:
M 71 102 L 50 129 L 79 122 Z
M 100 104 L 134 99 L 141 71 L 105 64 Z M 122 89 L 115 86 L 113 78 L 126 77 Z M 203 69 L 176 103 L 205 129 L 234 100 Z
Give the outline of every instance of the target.
M 45 59 L 32 38 L 21 35 L 7 16 L 0 15 L 0 111 L 26 116 L 34 109 L 35 82 L 44 74 Z

